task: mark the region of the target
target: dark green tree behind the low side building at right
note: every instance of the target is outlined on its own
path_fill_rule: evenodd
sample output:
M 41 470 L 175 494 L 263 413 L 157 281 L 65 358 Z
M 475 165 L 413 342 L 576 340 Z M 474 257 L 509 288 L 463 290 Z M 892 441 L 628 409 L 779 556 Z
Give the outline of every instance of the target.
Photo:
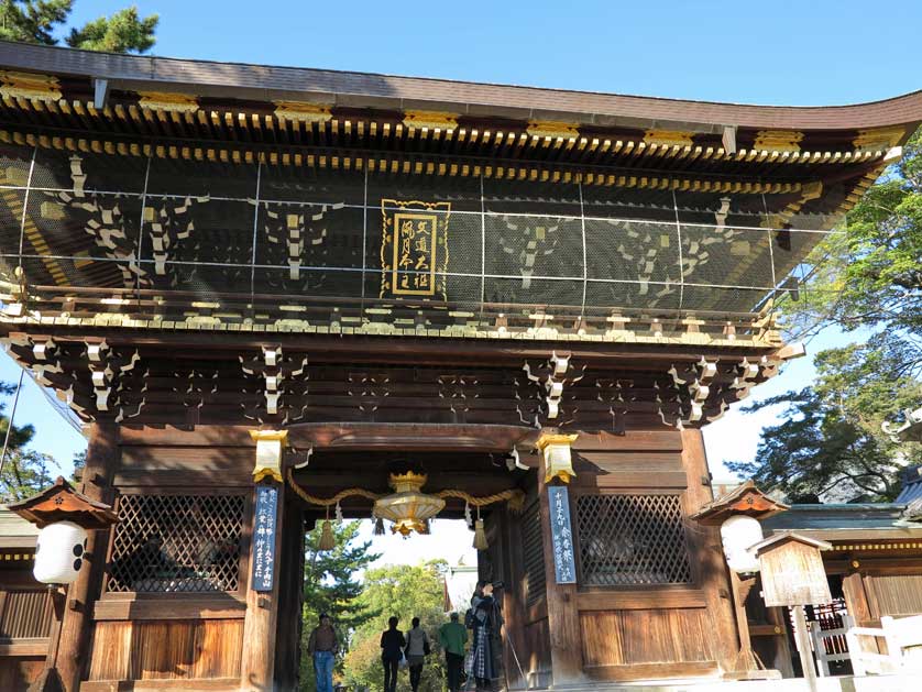
M 744 409 L 787 405 L 783 420 L 762 430 L 756 460 L 727 468 L 792 502 L 892 499 L 900 469 L 922 462 L 922 444 L 896 442 L 881 428 L 922 402 L 922 383 L 904 372 L 911 348 L 885 332 L 819 353 L 812 386 Z

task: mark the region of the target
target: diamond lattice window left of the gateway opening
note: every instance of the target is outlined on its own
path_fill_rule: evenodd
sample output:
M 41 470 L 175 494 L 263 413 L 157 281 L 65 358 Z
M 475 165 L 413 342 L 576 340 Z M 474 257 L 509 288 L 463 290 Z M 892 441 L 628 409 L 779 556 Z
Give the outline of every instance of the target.
M 123 495 L 108 591 L 237 591 L 241 495 Z

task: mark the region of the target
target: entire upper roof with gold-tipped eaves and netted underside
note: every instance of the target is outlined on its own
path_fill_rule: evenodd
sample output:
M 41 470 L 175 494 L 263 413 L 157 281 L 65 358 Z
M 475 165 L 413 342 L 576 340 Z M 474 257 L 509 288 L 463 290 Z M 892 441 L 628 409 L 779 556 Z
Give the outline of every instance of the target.
M 761 345 L 922 120 L 8 42 L 0 97 L 0 268 L 48 319 Z M 407 215 L 438 240 L 398 257 Z

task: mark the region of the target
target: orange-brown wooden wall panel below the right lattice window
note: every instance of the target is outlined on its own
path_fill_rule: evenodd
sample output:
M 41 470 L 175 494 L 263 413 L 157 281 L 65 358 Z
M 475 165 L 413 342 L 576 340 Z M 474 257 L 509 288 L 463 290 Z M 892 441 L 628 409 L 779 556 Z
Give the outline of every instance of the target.
M 714 661 L 704 608 L 580 613 L 588 667 Z

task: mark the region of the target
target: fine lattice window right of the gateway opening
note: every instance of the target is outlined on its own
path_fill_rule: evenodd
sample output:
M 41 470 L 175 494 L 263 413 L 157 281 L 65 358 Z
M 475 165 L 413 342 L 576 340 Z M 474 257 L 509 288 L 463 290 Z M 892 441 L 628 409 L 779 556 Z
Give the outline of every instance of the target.
M 584 585 L 692 581 L 678 495 L 581 495 L 577 526 Z

